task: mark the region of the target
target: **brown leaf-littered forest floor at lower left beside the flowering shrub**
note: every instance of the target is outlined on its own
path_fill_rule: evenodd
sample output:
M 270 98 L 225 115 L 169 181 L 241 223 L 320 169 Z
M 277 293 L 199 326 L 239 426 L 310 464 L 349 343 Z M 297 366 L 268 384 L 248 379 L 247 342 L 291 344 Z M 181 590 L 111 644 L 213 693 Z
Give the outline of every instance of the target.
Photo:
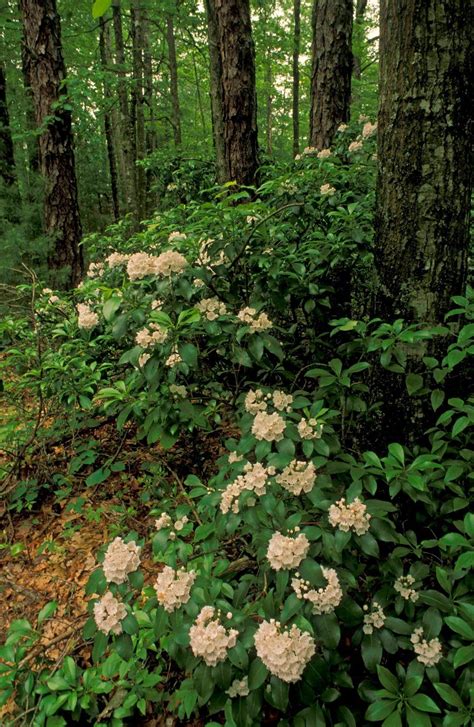
M 176 485 L 180 489 L 181 477 L 210 470 L 221 453 L 222 437 L 221 429 L 201 433 L 198 443 L 189 435 L 188 441 L 180 441 L 164 452 L 159 445 L 139 442 L 133 428 L 118 433 L 115 423 L 106 420 L 75 440 L 58 441 L 56 435 L 49 441 L 47 431 L 42 431 L 41 446 L 35 450 L 33 445 L 33 453 L 21 462 L 2 456 L 0 451 L 1 468 L 16 467 L 18 479 L 34 476 L 45 484 L 54 473 L 62 474 L 69 482 L 73 480 L 69 491 L 43 487 L 29 512 L 8 510 L 0 500 L 0 643 L 15 619 L 27 619 L 36 628 L 41 609 L 54 601 L 56 610 L 42 624 L 41 638 L 28 658 L 33 660 L 41 654 L 59 666 L 65 656 L 72 655 L 81 666 L 90 666 L 92 644 L 82 637 L 89 600 L 84 589 L 97 565 L 97 552 L 127 531 L 135 531 L 139 538 L 149 535 L 155 520 L 150 511 L 160 505 L 153 496 L 150 477 L 143 476 L 143 467 L 162 462 L 159 486 L 165 491 Z M 82 468 L 73 478 L 68 476 L 69 464 L 84 442 L 97 446 L 102 461 L 120 459 L 124 470 L 112 472 L 95 486 L 88 486 L 86 479 L 97 469 L 97 462 Z M 201 462 L 196 462 L 197 449 L 205 451 Z M 146 549 L 141 566 L 148 574 L 146 581 L 152 583 L 157 566 Z M 0 709 L 0 723 L 15 710 L 10 700 Z M 165 721 L 164 717 L 154 716 L 140 724 L 160 727 Z

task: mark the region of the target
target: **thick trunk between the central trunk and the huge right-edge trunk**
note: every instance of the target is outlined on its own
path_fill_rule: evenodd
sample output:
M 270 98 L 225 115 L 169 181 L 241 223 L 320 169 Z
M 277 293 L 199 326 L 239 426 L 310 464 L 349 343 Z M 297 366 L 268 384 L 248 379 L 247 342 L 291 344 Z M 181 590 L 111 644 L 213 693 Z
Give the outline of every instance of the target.
M 314 0 L 309 143 L 317 149 L 349 120 L 352 13 L 352 0 Z

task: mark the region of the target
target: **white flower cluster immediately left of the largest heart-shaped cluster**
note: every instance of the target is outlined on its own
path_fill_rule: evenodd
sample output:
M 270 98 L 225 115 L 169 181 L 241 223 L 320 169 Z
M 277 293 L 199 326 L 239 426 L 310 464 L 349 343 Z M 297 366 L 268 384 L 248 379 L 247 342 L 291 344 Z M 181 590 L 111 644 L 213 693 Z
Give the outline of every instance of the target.
M 237 643 L 239 632 L 226 630 L 219 622 L 216 609 L 204 606 L 189 631 L 194 656 L 200 656 L 207 666 L 224 661 L 227 651 Z

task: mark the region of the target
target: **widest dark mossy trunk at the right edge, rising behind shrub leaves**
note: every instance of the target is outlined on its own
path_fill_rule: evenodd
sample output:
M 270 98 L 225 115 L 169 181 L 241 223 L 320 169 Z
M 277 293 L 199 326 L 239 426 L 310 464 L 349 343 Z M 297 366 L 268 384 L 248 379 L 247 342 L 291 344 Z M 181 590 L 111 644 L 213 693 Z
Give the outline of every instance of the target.
M 471 6 L 472 7 L 472 6 Z M 383 0 L 377 314 L 442 322 L 464 291 L 472 189 L 469 0 Z

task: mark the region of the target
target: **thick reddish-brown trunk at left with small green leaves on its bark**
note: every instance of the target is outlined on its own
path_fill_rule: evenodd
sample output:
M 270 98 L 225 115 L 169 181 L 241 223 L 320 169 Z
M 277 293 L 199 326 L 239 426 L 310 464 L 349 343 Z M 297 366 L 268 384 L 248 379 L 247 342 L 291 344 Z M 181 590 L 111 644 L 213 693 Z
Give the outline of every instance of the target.
M 68 268 L 68 283 L 83 271 L 81 222 L 74 167 L 71 112 L 63 103 L 66 70 L 55 0 L 20 0 L 25 32 L 25 62 L 40 136 L 41 171 L 45 179 L 45 231 L 53 239 L 48 264 Z

